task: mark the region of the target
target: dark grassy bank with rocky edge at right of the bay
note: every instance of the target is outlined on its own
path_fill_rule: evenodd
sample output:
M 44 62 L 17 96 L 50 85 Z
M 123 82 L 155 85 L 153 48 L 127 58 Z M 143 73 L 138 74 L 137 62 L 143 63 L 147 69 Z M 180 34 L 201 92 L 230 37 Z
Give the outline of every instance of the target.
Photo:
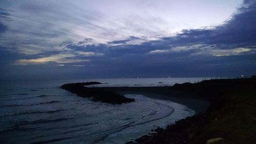
M 208 99 L 210 106 L 204 113 L 156 129 L 156 134 L 142 136 L 137 142 L 256 143 L 256 79 L 206 80 L 168 88 Z

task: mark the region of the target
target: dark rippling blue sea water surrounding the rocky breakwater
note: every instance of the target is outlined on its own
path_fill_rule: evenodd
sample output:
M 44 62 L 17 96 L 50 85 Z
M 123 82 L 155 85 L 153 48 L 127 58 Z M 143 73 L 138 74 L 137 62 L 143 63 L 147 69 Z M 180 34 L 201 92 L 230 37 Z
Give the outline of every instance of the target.
M 84 79 L 2 81 L 1 143 L 124 143 L 195 114 L 184 105 L 129 93 L 136 102 L 92 102 L 59 88 L 70 82 L 98 81 L 101 86 L 169 86 L 205 78 Z M 206 78 L 208 79 L 208 78 Z M 94 85 L 96 86 L 96 85 Z

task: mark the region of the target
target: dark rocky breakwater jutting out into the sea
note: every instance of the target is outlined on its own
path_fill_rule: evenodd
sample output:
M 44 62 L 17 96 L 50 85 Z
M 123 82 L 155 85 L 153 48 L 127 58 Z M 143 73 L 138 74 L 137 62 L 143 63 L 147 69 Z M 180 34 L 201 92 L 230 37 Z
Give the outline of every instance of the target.
M 134 99 L 125 98 L 123 95 L 105 91 L 100 88 L 89 88 L 86 85 L 101 84 L 99 82 L 86 82 L 86 83 L 69 83 L 63 84 L 62 89 L 68 90 L 77 94 L 82 98 L 93 98 L 95 102 L 109 103 L 109 104 L 123 104 L 134 102 Z

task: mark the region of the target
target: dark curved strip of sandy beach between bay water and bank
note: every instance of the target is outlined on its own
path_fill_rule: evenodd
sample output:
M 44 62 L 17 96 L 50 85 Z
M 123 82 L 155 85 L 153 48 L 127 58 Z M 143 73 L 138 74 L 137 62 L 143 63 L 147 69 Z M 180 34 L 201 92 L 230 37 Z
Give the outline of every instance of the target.
M 171 86 L 159 86 L 159 87 L 93 87 L 94 89 L 103 89 L 107 91 L 112 91 L 124 94 L 141 94 L 153 100 L 163 100 L 171 101 L 173 103 L 181 104 L 186 106 L 188 109 L 194 110 L 195 114 L 204 112 L 209 107 L 209 101 L 206 99 L 196 98 L 194 94 L 177 92 L 172 90 Z M 194 114 L 194 115 L 195 115 Z M 184 117 L 185 118 L 185 117 Z M 180 119 L 181 120 L 181 119 Z M 178 121 L 178 120 L 177 120 Z M 166 128 L 166 127 L 165 127 Z M 155 130 L 151 130 L 151 134 L 163 130 L 164 127 L 158 127 Z M 145 137 L 148 135 L 138 135 L 137 139 L 140 137 Z M 126 141 L 127 142 L 127 141 Z M 129 141 L 132 142 L 132 141 Z M 135 142 L 135 141 L 133 141 Z

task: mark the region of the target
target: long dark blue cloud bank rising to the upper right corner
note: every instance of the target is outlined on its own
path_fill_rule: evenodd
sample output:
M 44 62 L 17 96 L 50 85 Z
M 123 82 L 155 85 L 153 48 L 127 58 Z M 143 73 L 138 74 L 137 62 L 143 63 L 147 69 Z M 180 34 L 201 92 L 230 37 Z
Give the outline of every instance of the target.
M 67 47 L 76 51 L 102 52 L 110 58 L 131 54 L 141 56 L 150 52 L 168 55 L 181 53 L 184 58 L 191 54 L 229 56 L 249 53 L 253 52 L 252 50 L 255 49 L 256 45 L 255 5 L 256 3 L 253 1 L 245 1 L 236 14 L 221 26 L 214 28 L 183 30 L 175 36 L 162 37 L 160 40 L 147 41 L 141 44 L 126 44 L 126 42 L 139 39 L 131 36 L 125 40 L 108 42 L 108 44 L 121 45 L 70 44 Z

